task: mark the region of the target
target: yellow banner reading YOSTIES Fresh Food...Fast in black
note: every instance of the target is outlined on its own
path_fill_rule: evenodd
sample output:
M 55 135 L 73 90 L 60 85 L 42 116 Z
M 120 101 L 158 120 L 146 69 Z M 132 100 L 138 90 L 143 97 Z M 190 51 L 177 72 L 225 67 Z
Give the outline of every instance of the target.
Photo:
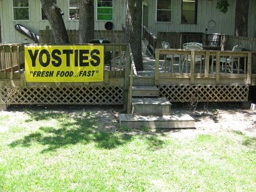
M 27 82 L 103 82 L 103 74 L 103 46 L 25 46 Z

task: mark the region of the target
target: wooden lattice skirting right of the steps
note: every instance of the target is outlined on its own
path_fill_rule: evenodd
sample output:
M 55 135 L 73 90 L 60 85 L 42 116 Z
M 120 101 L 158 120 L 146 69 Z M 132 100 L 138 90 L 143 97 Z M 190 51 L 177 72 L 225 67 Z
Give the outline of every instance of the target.
M 177 84 L 159 85 L 160 97 L 172 102 L 247 101 L 248 85 Z

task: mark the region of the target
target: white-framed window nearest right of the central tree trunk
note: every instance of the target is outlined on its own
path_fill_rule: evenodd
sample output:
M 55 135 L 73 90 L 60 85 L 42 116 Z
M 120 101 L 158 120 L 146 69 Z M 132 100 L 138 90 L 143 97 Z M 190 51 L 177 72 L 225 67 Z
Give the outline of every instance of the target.
M 171 0 L 157 0 L 157 22 L 171 22 Z

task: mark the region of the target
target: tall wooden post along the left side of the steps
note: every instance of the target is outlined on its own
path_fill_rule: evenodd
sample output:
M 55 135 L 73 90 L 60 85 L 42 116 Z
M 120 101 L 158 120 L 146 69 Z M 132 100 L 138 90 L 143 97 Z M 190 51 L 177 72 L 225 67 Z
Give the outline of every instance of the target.
M 128 87 L 129 87 L 129 75 L 130 75 L 130 62 L 131 56 L 129 51 L 129 45 L 126 48 L 126 62 L 125 62 L 125 73 L 124 73 L 124 86 L 123 86 L 123 110 L 127 110 L 128 105 Z

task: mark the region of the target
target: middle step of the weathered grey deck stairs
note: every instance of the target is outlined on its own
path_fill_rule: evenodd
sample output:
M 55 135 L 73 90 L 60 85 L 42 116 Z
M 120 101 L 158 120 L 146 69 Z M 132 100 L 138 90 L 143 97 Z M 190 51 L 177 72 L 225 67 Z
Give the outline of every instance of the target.
M 171 103 L 169 100 L 158 97 L 133 97 L 133 114 L 170 115 Z

